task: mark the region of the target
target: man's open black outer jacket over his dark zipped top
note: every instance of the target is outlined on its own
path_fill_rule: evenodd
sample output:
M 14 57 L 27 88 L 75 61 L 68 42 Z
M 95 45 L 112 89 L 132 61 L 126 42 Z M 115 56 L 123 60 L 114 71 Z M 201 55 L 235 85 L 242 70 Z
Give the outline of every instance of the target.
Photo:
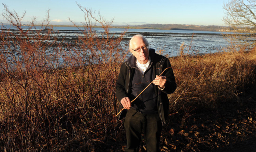
M 166 68 L 171 68 L 168 58 L 158 55 L 154 49 L 149 50 L 151 61 L 153 62 L 153 77 L 160 75 Z M 131 57 L 135 58 L 135 57 Z M 135 61 L 135 60 L 134 60 Z M 116 81 L 116 97 L 118 101 L 121 101 L 124 97 L 129 97 L 131 92 L 131 82 L 134 74 L 134 68 L 128 61 L 121 65 L 120 73 Z M 167 82 L 165 88 L 160 90 L 155 86 L 155 94 L 157 96 L 157 109 L 159 117 L 163 123 L 166 123 L 166 118 L 169 112 L 169 99 L 167 94 L 173 93 L 176 89 L 175 78 L 172 69 L 167 69 L 161 76 L 166 76 Z

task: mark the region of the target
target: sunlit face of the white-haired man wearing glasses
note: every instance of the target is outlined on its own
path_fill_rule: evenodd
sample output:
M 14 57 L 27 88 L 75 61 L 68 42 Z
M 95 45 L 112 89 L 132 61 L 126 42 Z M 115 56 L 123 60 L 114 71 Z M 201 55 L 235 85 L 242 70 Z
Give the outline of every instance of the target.
M 132 52 L 132 55 L 135 56 L 139 61 L 139 63 L 141 64 L 146 64 L 148 61 L 148 56 L 149 56 L 148 49 L 146 50 L 141 49 L 145 45 L 146 44 L 144 43 L 141 37 L 134 37 L 131 41 L 131 49 L 133 50 L 140 49 L 139 52 L 135 52 L 133 50 L 131 50 L 131 52 Z

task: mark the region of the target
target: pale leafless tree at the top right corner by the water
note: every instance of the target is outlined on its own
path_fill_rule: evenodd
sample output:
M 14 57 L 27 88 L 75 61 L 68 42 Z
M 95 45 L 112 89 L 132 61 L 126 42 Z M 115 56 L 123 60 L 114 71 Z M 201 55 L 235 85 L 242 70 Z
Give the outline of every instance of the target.
M 224 3 L 223 21 L 233 32 L 225 34 L 230 43 L 236 43 L 244 49 L 255 45 L 255 4 L 255 0 L 229 0 Z

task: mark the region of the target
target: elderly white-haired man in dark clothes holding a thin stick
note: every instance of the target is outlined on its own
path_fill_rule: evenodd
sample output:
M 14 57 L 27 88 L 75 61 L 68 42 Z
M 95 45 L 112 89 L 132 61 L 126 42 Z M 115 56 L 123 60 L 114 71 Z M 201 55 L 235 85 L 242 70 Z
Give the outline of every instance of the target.
M 149 49 L 149 43 L 142 35 L 131 38 L 129 50 L 132 56 L 121 65 L 116 82 L 116 97 L 128 109 L 124 122 L 125 151 L 138 151 L 143 131 L 147 151 L 156 152 L 159 151 L 161 128 L 169 110 L 167 94 L 176 89 L 174 74 L 169 60 Z M 170 69 L 158 76 L 166 68 Z

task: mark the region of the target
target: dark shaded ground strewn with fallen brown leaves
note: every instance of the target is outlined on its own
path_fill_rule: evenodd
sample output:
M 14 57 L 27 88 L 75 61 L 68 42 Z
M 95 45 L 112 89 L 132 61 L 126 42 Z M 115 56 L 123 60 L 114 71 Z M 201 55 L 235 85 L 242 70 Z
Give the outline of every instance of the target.
M 163 126 L 161 151 L 173 152 L 255 152 L 256 89 L 249 89 L 233 101 L 219 103 L 213 109 L 196 110 L 183 122 L 179 114 L 169 117 Z M 109 142 L 107 151 L 125 148 L 125 131 Z M 141 152 L 146 151 L 142 139 Z

